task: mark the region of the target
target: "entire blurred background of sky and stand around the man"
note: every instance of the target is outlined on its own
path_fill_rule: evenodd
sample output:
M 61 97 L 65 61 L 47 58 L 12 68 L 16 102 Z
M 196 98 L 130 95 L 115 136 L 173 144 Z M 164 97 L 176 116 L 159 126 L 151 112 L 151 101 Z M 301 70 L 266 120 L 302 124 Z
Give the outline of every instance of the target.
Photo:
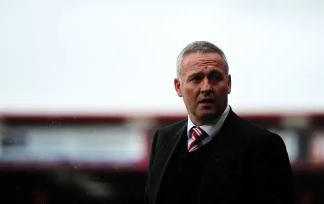
M 211 41 L 229 105 L 324 203 L 324 2 L 0 1 L 1 203 L 143 203 L 152 135 L 186 118 L 176 57 Z

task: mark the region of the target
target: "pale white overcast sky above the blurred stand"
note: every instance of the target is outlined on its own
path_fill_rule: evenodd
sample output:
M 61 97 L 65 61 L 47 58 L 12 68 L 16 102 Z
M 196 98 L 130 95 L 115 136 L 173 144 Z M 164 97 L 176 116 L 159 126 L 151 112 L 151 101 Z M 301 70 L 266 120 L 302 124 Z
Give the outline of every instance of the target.
M 1 1 L 0 113 L 183 114 L 195 40 L 225 52 L 234 111 L 324 111 L 324 1 L 133 2 Z

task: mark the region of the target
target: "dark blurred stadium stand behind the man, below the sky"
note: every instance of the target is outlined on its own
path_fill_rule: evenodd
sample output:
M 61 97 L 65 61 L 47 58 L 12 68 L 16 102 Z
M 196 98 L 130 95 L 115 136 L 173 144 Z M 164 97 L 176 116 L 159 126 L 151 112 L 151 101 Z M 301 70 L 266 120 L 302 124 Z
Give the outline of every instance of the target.
M 324 115 L 242 117 L 284 139 L 295 203 L 324 203 Z M 1 203 L 143 203 L 151 137 L 183 118 L 3 116 Z

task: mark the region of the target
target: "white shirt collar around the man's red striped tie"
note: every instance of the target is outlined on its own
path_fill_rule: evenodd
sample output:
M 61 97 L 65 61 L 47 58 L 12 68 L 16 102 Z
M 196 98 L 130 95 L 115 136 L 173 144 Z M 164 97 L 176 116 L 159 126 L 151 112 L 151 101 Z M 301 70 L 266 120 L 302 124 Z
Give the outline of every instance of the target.
M 199 126 L 201 129 L 203 129 L 208 134 L 208 137 L 204 138 L 201 141 L 201 143 L 203 145 L 205 145 L 207 142 L 212 140 L 216 136 L 216 134 L 219 132 L 219 130 L 221 129 L 221 127 L 224 124 L 224 121 L 229 113 L 229 110 L 230 110 L 229 105 L 227 105 L 227 107 L 226 107 L 225 111 L 222 113 L 222 115 L 218 119 L 216 119 L 213 123 Z M 188 148 L 189 148 L 189 144 L 190 144 L 190 141 L 192 138 L 192 135 L 190 135 L 190 129 L 194 126 L 195 125 L 192 123 L 192 121 L 190 120 L 189 115 L 188 115 L 188 125 L 187 125 Z

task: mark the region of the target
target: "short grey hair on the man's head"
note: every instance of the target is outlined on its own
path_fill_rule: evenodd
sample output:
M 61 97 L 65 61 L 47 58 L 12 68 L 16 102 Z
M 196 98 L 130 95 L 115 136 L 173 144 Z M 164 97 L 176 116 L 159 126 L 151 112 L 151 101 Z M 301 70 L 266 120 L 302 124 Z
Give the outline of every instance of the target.
M 229 67 L 228 62 L 225 57 L 224 52 L 215 44 L 208 42 L 208 41 L 194 41 L 188 44 L 178 55 L 177 58 L 177 78 L 181 83 L 181 63 L 185 56 L 191 53 L 199 53 L 199 54 L 207 54 L 207 53 L 218 53 L 222 56 L 223 60 L 225 61 L 225 72 L 228 75 Z

